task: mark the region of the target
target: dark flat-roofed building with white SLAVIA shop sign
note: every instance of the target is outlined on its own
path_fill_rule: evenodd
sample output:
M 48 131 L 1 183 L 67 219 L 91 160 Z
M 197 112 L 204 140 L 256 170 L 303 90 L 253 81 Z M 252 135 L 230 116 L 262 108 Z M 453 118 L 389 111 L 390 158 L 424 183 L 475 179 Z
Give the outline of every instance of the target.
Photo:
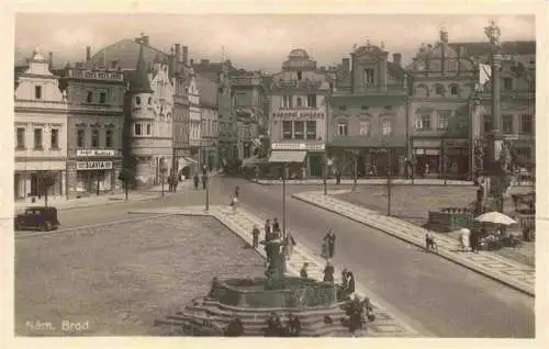
M 68 195 L 112 192 L 122 169 L 124 75 L 68 66 L 60 85 L 68 102 Z

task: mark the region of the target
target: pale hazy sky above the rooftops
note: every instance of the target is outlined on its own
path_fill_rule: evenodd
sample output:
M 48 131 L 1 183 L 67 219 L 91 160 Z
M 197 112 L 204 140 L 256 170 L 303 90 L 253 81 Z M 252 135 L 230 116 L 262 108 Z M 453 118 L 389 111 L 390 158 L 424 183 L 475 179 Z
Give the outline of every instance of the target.
M 383 42 L 406 63 L 422 43 L 435 44 L 441 27 L 450 42 L 485 42 L 483 29 L 491 20 L 502 41 L 535 40 L 533 15 L 18 13 L 15 63 L 24 64 L 35 47 L 53 52 L 56 65 L 82 60 L 87 45 L 94 54 L 142 32 L 166 52 L 180 43 L 194 60 L 219 61 L 224 47 L 236 67 L 268 72 L 280 70 L 294 48 L 307 50 L 318 66 L 329 66 L 367 41 Z

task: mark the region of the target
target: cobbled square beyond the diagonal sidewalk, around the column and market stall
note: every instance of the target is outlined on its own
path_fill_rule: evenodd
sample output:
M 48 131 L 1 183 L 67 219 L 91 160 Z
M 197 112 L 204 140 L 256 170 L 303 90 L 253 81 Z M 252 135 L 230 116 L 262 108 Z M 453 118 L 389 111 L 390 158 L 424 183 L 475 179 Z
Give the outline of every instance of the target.
M 514 187 L 511 193 L 530 192 L 533 188 Z M 464 207 L 475 198 L 475 187 L 447 188 L 433 185 L 417 187 L 394 187 L 391 193 L 391 214 L 393 217 L 423 226 L 427 223 L 428 212 L 438 211 L 440 207 Z M 329 192 L 330 194 L 333 192 Z M 386 189 L 381 187 L 361 187 L 358 191 L 346 191 L 337 195 L 337 199 L 349 203 L 386 213 Z M 506 207 L 512 210 L 513 204 L 506 203 Z M 448 234 L 452 236 L 452 234 Z M 455 236 L 452 236 L 455 237 Z M 500 255 L 511 260 L 530 267 L 535 266 L 535 244 L 524 241 L 516 249 L 503 248 L 491 254 Z

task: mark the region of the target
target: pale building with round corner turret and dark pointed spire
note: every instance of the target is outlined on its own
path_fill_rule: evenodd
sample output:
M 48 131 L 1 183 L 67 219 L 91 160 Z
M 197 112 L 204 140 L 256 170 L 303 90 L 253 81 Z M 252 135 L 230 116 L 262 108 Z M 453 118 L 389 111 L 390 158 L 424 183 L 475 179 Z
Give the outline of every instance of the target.
M 153 71 L 147 71 L 143 44 L 138 57 L 126 93 L 128 143 L 135 184 L 148 187 L 160 183 L 171 171 L 173 81 L 168 66 L 158 59 Z

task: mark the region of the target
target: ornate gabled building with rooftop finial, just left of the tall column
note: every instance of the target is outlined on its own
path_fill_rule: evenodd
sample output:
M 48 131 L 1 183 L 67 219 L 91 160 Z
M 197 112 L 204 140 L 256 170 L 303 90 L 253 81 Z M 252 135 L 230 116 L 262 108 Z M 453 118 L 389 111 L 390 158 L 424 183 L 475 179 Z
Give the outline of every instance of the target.
M 408 67 L 410 149 L 418 177 L 467 179 L 470 177 L 470 97 L 479 71 L 459 46 L 440 31 L 435 45 L 422 46 Z

